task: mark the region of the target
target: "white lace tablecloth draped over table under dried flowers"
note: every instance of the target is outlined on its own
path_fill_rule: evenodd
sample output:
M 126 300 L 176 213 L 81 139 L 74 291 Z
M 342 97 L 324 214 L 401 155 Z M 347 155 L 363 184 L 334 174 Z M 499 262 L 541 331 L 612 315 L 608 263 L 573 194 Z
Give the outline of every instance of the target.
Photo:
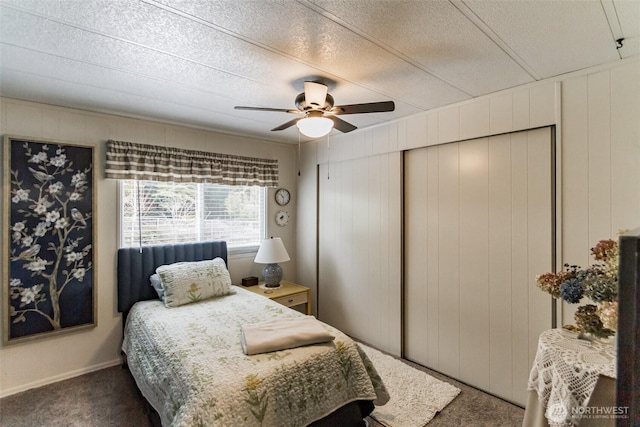
M 550 329 L 540 335 L 528 390 L 535 390 L 552 427 L 578 424 L 580 411 L 599 375 L 616 377 L 616 348 L 611 342 L 578 339 L 574 332 Z

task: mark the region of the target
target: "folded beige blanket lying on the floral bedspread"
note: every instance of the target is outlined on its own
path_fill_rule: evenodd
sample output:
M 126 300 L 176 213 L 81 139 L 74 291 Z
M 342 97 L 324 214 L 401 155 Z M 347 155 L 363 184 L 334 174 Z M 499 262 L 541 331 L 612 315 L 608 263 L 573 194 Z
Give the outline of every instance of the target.
M 313 316 L 243 325 L 240 334 L 242 351 L 247 355 L 329 342 L 333 339 L 333 335 Z

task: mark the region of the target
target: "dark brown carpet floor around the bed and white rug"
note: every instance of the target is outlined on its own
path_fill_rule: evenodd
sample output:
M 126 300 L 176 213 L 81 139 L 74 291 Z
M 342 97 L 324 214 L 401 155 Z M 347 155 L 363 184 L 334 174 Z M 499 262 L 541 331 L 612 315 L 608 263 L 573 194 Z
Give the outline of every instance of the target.
M 411 362 L 462 392 L 429 427 L 521 426 L 524 410 Z M 0 399 L 3 427 L 150 427 L 129 371 L 115 366 Z M 369 426 L 382 427 L 368 419 Z

